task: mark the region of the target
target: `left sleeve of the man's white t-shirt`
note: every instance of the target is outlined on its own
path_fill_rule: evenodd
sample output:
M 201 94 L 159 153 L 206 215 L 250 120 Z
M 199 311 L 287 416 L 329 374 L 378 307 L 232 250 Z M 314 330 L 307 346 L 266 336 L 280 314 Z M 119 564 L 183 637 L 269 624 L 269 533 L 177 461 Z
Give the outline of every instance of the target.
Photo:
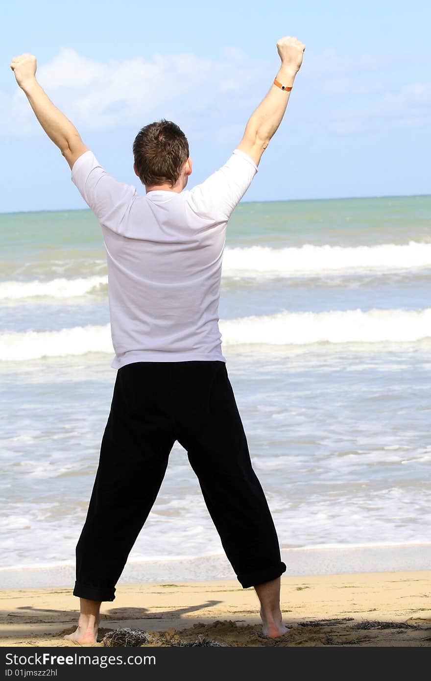
M 108 175 L 92 151 L 86 151 L 76 159 L 71 169 L 71 181 L 99 223 L 121 234 L 125 216 L 137 195 L 135 187 Z

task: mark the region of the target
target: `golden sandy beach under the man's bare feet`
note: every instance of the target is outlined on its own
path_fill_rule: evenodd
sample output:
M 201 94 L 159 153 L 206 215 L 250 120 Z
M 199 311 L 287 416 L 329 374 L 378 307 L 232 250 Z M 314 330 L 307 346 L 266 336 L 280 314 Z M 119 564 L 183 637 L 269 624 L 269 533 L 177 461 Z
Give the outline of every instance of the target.
M 76 627 L 71 588 L 3 590 L 0 646 L 75 646 L 63 635 Z M 199 635 L 228 646 L 430 646 L 429 571 L 283 577 L 281 604 L 291 629 L 261 636 L 257 597 L 236 580 L 120 584 L 103 603 L 95 646 L 112 630 L 153 632 L 167 646 Z

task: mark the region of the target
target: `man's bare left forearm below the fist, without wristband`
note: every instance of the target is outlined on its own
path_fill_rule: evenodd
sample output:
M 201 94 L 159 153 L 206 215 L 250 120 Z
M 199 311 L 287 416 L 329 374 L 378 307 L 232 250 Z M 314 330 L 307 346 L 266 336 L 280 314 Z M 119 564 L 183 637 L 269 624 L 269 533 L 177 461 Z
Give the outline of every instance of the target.
M 50 140 L 60 148 L 61 153 L 64 154 L 67 150 L 73 148 L 74 145 L 81 142 L 80 134 L 76 127 L 57 109 L 57 106 L 52 104 L 52 101 L 35 78 L 23 84 L 22 90 L 27 95 L 27 99 L 40 125 L 42 125 Z

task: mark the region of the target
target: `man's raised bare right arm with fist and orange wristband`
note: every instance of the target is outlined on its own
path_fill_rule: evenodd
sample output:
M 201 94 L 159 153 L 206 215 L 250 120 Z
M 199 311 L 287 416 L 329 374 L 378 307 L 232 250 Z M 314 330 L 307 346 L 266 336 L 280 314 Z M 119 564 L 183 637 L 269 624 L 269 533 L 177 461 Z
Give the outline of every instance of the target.
M 286 88 L 291 88 L 301 67 L 305 46 L 298 39 L 287 36 L 278 40 L 277 50 L 281 67 L 276 80 Z M 256 165 L 259 165 L 261 155 L 283 119 L 289 95 L 290 90 L 272 84 L 268 95 L 249 118 L 244 137 L 237 148 L 248 154 Z

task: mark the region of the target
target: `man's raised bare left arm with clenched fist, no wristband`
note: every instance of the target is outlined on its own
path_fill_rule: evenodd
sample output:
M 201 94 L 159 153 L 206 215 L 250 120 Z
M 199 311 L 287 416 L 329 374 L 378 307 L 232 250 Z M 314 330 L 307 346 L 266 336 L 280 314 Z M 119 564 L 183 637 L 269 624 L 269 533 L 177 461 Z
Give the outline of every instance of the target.
M 76 127 L 57 109 L 36 80 L 36 57 L 20 54 L 14 57 L 10 67 L 16 82 L 27 95 L 36 118 L 48 137 L 57 144 L 70 168 L 84 151 L 89 151 L 80 138 Z

